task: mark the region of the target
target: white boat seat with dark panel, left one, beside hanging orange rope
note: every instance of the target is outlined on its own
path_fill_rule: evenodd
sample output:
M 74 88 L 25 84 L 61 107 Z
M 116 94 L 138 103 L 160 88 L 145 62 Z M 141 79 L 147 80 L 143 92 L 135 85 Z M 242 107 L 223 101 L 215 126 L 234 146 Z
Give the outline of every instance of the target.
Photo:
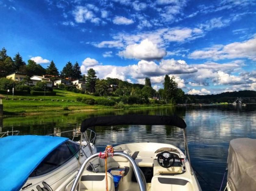
M 113 176 L 108 172 L 108 190 L 115 191 Z M 106 189 L 105 172 L 86 173 L 81 176 L 80 190 L 102 191 Z

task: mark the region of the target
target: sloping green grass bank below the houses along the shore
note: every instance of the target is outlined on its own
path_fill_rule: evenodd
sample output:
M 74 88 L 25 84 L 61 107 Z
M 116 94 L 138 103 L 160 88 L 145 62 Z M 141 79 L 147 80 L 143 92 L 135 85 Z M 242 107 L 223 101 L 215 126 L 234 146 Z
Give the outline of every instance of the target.
M 122 106 L 103 106 L 87 105 L 76 101 L 77 97 L 91 97 L 95 100 L 102 97 L 95 97 L 86 94 L 79 94 L 65 90 L 54 90 L 56 96 L 9 96 L 6 100 L 3 98 L 4 116 L 13 115 L 38 115 L 38 114 L 65 114 L 72 112 L 86 112 L 97 110 L 120 110 L 134 108 L 163 107 L 162 105 L 127 105 Z M 113 97 L 115 98 L 115 97 Z M 170 105 L 164 105 L 170 106 Z

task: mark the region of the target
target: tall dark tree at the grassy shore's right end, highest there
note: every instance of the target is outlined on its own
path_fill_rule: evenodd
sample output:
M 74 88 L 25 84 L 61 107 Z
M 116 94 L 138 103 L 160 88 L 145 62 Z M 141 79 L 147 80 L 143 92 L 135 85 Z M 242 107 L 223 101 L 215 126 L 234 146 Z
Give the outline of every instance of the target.
M 169 102 L 172 98 L 175 97 L 176 91 L 178 89 L 178 84 L 175 81 L 175 77 L 172 76 L 171 78 L 168 75 L 165 75 L 164 85 L 164 94 L 165 99 Z

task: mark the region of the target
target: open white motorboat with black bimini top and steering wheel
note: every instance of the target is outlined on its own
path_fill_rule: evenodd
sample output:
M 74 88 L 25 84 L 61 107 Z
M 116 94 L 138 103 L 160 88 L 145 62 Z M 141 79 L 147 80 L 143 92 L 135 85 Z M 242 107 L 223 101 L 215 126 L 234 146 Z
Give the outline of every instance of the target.
M 199 191 L 187 146 L 186 123 L 176 116 L 116 115 L 85 119 L 80 131 L 94 126 L 171 125 L 183 130 L 183 153 L 172 144 L 138 142 L 107 145 L 88 157 L 66 182 L 68 191 Z M 173 128 L 173 127 L 170 127 Z M 73 177 L 73 179 L 72 179 Z M 61 186 L 63 188 L 63 185 Z M 57 189 L 59 190 L 59 189 Z

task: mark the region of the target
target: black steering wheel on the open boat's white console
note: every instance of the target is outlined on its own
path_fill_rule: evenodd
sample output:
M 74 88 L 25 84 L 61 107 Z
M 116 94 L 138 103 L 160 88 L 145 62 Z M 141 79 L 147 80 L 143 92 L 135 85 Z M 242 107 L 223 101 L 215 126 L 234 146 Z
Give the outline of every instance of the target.
M 178 155 L 170 153 L 168 151 L 163 151 L 157 155 L 158 164 L 164 168 L 170 168 L 174 164 L 175 159 L 180 158 Z M 163 163 L 160 162 L 160 160 L 163 160 Z

